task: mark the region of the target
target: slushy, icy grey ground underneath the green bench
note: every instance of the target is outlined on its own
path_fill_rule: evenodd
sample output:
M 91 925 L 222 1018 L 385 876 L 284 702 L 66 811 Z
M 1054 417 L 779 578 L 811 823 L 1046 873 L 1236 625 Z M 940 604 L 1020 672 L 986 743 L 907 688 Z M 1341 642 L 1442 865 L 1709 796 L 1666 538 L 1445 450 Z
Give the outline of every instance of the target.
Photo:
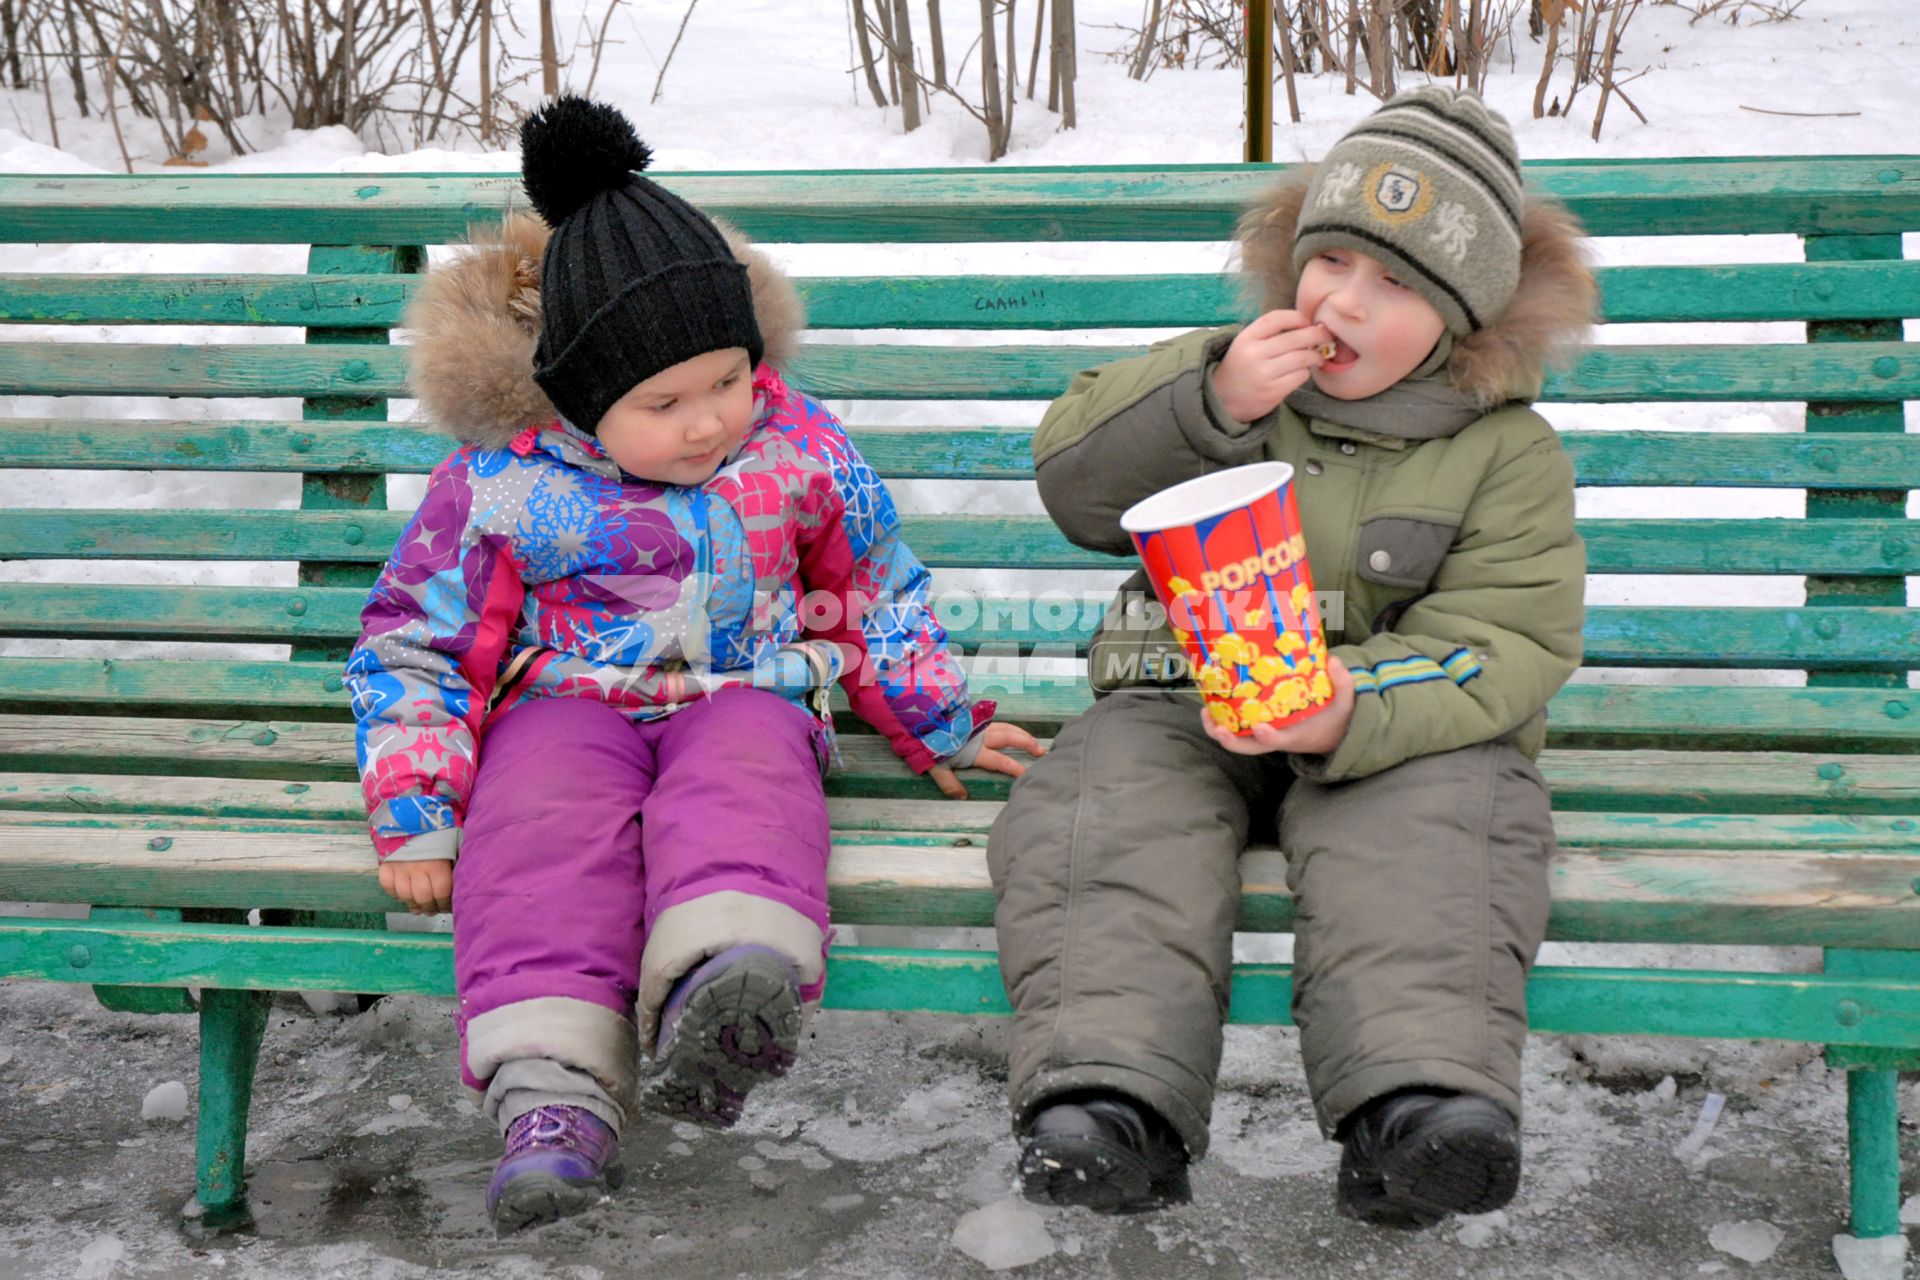
M 1801 1048 L 1707 1046 L 1699 1071 L 1674 1077 L 1536 1040 L 1519 1199 L 1402 1236 L 1334 1215 L 1338 1150 L 1313 1130 L 1292 1031 L 1229 1031 L 1192 1205 L 1102 1219 L 1008 1203 L 1002 1021 L 828 1013 L 735 1130 L 641 1119 L 609 1203 L 495 1240 L 482 1199 L 497 1140 L 455 1084 L 447 1004 L 392 996 L 315 1017 L 286 996 L 255 1086 L 257 1224 L 207 1240 L 175 1230 L 192 1126 L 142 1119 L 156 1080 L 192 1079 L 192 1021 L 108 1013 L 81 986 L 0 986 L 0 1007 L 8 1280 L 88 1267 L 113 1280 L 879 1280 L 1025 1257 L 1010 1274 L 1665 1280 L 1743 1270 L 1763 1249 L 1759 1274 L 1812 1278 L 1834 1274 L 1845 1221 L 1843 1088 Z M 1711 1092 L 1726 1098 L 1713 1136 L 1676 1153 Z

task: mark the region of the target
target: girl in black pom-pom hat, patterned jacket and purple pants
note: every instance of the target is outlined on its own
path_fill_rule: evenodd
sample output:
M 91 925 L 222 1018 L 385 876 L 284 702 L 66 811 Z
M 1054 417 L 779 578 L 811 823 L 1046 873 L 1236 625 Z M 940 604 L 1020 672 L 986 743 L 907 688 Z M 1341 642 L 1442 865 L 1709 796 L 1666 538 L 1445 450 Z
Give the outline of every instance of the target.
M 636 1092 L 732 1125 L 793 1061 L 829 685 L 948 794 L 1037 750 L 970 702 L 885 486 L 764 359 L 801 326 L 774 265 L 639 177 L 611 107 L 563 98 L 520 142 L 545 226 L 426 280 L 415 390 L 463 447 L 348 664 L 382 885 L 455 908 L 501 1230 L 618 1182 Z

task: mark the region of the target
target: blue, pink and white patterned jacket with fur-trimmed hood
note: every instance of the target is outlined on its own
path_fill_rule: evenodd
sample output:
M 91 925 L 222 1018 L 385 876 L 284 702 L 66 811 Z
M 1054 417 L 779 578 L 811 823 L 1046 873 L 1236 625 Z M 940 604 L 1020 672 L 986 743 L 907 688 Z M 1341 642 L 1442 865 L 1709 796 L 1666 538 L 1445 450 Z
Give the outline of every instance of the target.
M 839 420 L 762 361 L 756 424 L 712 480 L 624 476 L 540 413 L 524 309 L 540 234 L 509 225 L 432 273 L 409 317 L 415 390 L 465 447 L 434 470 L 348 660 L 374 850 L 453 858 L 484 725 L 541 697 L 653 720 L 728 685 L 824 706 L 837 681 L 916 771 L 970 762 L 993 704 L 970 706 L 929 574 Z M 735 249 L 781 351 L 797 303 Z M 528 334 L 518 363 L 509 330 Z

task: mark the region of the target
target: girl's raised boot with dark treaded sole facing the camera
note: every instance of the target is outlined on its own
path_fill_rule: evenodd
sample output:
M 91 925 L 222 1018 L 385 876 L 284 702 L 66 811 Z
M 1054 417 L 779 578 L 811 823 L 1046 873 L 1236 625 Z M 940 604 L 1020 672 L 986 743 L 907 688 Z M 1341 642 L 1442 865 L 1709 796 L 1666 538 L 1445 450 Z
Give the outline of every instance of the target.
M 641 1105 L 730 1128 L 755 1084 L 787 1075 L 799 1046 L 793 961 L 770 946 L 730 946 L 666 994 Z

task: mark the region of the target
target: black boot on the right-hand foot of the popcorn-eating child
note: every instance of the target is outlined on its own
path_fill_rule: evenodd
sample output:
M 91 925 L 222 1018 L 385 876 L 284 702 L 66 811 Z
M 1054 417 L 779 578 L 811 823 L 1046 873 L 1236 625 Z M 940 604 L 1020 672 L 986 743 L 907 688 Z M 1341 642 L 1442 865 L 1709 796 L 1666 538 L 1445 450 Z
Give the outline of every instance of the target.
M 1375 1098 L 1346 1126 L 1340 1213 L 1425 1230 L 1450 1213 L 1492 1213 L 1521 1186 L 1521 1126 L 1476 1094 Z

